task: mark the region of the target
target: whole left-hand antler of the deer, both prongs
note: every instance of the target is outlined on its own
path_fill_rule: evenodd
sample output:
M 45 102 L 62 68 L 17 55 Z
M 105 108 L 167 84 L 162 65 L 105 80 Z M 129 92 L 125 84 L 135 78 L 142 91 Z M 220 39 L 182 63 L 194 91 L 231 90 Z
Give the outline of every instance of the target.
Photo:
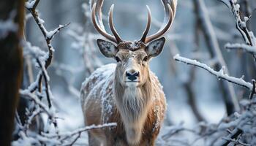
M 118 44 L 119 42 L 123 42 L 121 38 L 119 37 L 116 28 L 113 26 L 113 5 L 110 8 L 109 12 L 109 22 L 110 22 L 110 29 L 114 35 L 114 37 L 111 34 L 108 34 L 107 31 L 105 31 L 105 27 L 102 22 L 102 4 L 104 0 L 97 0 L 96 3 L 93 4 L 92 12 L 91 12 L 91 20 L 94 24 L 94 27 L 99 32 L 99 34 L 102 34 L 106 39 L 109 39 L 112 42 L 116 42 Z

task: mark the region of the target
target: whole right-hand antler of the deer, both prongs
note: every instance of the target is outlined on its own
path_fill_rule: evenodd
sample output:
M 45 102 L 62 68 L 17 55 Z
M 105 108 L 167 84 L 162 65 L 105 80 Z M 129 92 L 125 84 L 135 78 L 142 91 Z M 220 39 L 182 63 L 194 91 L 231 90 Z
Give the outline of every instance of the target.
M 171 6 L 168 4 L 167 0 L 162 0 L 162 4 L 165 7 L 165 19 L 162 27 L 156 34 L 152 34 L 149 37 L 146 37 L 148 34 L 149 28 L 150 28 L 150 23 L 151 23 L 151 14 L 150 14 L 150 9 L 148 8 L 148 23 L 146 26 L 146 30 L 143 32 L 143 37 L 141 37 L 140 41 L 144 43 L 148 43 L 153 41 L 154 39 L 157 39 L 158 37 L 161 37 L 163 34 L 165 34 L 166 31 L 169 30 L 170 26 L 173 23 L 173 19 L 176 15 L 176 6 L 177 6 L 177 1 L 178 0 L 172 0 Z M 168 19 L 167 19 L 168 18 Z

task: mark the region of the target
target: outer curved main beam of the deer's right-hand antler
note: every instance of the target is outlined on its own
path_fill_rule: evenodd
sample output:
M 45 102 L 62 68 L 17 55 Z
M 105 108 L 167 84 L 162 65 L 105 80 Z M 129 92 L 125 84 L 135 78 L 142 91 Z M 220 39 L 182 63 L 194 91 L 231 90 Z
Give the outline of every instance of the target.
M 151 42 L 152 40 L 157 39 L 158 37 L 161 37 L 163 34 L 165 34 L 166 31 L 169 30 L 171 24 L 173 23 L 173 19 L 176 14 L 177 0 L 172 1 L 171 7 L 170 7 L 170 4 L 168 4 L 167 1 L 165 0 L 162 0 L 162 3 L 165 7 L 165 20 L 164 20 L 165 25 L 162 28 L 160 28 L 160 30 L 156 34 L 152 34 L 151 36 L 146 37 L 145 43 Z M 167 20 L 167 15 L 169 16 L 168 20 Z M 167 21 L 167 23 L 165 23 L 165 21 Z

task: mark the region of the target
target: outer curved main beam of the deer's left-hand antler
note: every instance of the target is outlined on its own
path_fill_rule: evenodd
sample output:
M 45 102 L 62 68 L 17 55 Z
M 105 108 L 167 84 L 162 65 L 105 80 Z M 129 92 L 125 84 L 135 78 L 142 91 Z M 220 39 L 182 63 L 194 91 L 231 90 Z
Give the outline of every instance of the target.
M 93 5 L 92 12 L 91 12 L 91 20 L 92 20 L 92 23 L 94 24 L 94 28 L 96 28 L 99 34 L 102 34 L 102 36 L 104 36 L 105 38 L 109 39 L 112 42 L 118 43 L 115 37 L 113 37 L 112 35 L 108 34 L 105 31 L 105 27 L 103 26 L 102 16 L 101 16 L 101 7 L 102 7 L 103 0 L 98 0 L 98 1 L 99 3 L 97 2 Z

